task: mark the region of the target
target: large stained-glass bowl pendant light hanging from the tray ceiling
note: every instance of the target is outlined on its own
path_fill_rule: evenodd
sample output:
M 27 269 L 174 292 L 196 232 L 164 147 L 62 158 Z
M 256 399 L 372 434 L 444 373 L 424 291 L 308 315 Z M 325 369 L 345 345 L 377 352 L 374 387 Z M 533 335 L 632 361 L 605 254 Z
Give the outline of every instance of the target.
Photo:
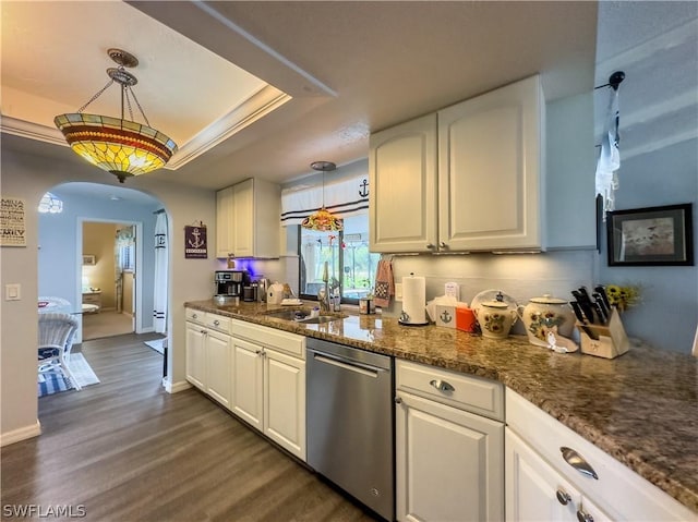
M 119 65 L 107 69 L 107 75 L 110 77 L 107 85 L 77 109 L 77 112 L 59 114 L 53 123 L 79 156 L 111 172 L 123 183 L 131 175 L 145 174 L 165 167 L 177 151 L 177 144 L 151 126 L 133 93 L 132 87 L 139 81 L 125 68 L 136 66 L 137 58 L 121 49 L 108 49 L 107 54 Z M 83 113 L 83 110 L 115 82 L 121 85 L 121 118 Z M 133 121 L 131 98 L 141 111 L 145 125 Z M 123 119 L 124 100 L 130 120 Z

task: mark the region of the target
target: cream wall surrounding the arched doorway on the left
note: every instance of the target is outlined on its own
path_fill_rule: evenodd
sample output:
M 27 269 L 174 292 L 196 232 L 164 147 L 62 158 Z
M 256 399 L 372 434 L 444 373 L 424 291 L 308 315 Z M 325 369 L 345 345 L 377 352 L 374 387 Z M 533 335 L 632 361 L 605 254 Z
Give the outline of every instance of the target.
M 64 161 L 48 160 L 38 154 L 16 151 L 23 139 L 2 136 L 2 196 L 23 198 L 26 247 L 0 248 L 0 288 L 22 286 L 22 300 L 0 301 L 0 434 L 1 444 L 36 435 L 36 339 L 38 298 L 38 211 L 41 195 L 67 181 L 101 182 L 117 185 L 117 179 L 87 165 L 65 148 Z M 73 156 L 75 156 L 73 158 Z M 170 223 L 170 356 L 168 376 L 177 386 L 184 383 L 184 307 L 191 300 L 210 298 L 215 259 L 184 259 L 184 226 L 194 221 L 209 224 L 215 238 L 214 191 L 203 191 L 148 179 L 130 179 L 131 189 L 143 190 L 163 202 Z

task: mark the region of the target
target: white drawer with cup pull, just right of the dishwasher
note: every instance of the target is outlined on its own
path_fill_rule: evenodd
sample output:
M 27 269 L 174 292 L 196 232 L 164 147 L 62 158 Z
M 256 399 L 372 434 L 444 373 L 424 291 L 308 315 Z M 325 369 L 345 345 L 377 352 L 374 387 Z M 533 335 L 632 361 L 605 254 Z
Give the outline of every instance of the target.
M 504 421 L 504 386 L 500 383 L 399 360 L 396 368 L 400 390 Z

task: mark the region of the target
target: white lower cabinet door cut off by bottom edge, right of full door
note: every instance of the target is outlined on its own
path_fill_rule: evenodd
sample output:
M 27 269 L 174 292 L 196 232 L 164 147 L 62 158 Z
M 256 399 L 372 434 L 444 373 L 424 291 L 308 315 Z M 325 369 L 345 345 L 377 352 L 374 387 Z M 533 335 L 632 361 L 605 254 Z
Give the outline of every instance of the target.
M 510 429 L 505 446 L 507 521 L 577 520 L 581 494 Z

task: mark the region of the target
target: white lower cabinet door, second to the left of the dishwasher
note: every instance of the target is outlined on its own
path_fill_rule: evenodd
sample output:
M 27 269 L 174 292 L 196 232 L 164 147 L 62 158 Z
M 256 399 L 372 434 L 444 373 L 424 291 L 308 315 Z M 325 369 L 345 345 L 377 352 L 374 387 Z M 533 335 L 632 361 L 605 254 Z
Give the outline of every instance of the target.
M 232 412 L 261 432 L 264 349 L 233 337 L 232 356 Z

